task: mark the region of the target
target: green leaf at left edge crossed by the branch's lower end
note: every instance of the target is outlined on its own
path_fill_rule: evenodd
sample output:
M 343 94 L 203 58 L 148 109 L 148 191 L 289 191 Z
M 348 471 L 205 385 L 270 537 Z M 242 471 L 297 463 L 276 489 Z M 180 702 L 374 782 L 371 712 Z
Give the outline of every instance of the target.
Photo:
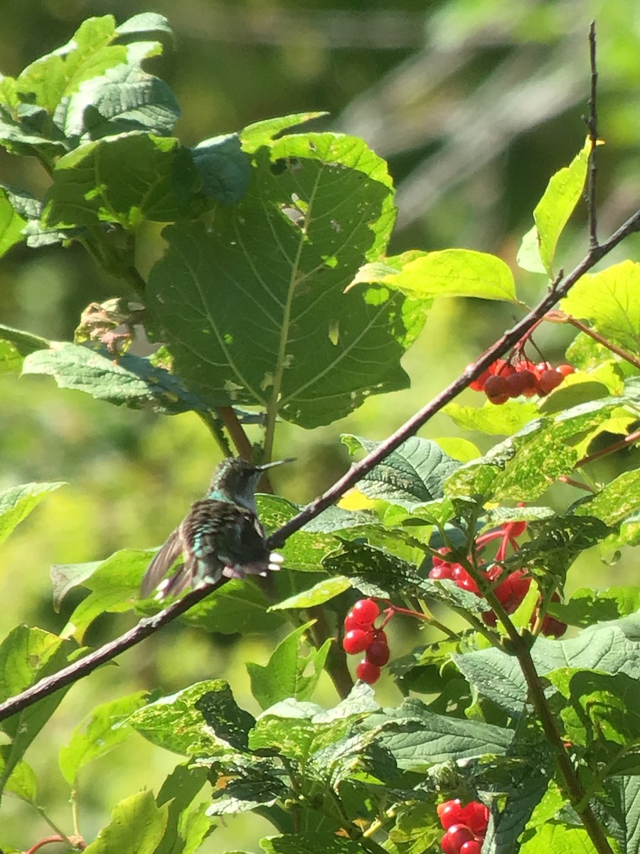
M 17 626 L 0 645 L 0 702 L 31 687 L 44 676 L 50 676 L 67 664 L 71 645 L 57 635 L 42 629 Z M 29 705 L 2 724 L 10 743 L 0 745 L 0 793 L 27 747 L 67 693 L 64 687 Z

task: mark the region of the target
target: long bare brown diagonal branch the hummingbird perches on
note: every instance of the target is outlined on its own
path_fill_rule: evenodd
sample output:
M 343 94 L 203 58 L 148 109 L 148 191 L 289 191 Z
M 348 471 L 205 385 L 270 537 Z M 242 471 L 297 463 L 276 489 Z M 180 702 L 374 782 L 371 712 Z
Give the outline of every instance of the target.
M 469 383 L 477 377 L 480 377 L 482 371 L 485 371 L 486 368 L 492 365 L 494 360 L 505 354 L 509 348 L 514 347 L 515 343 L 520 341 L 521 337 L 531 330 L 538 320 L 544 317 L 544 314 L 554 307 L 557 301 L 567 295 L 573 284 L 575 284 L 578 279 L 585 274 L 585 272 L 591 270 L 591 267 L 595 266 L 599 260 L 611 252 L 611 250 L 624 240 L 625 237 L 628 237 L 636 231 L 640 231 L 640 210 L 627 219 L 624 225 L 621 225 L 607 241 L 599 246 L 591 247 L 589 252 L 585 255 L 585 258 L 580 261 L 579 265 L 576 266 L 572 272 L 564 278 L 557 279 L 554 283 L 553 289 L 544 296 L 544 299 L 541 300 L 538 305 L 520 321 L 520 323 L 516 324 L 511 330 L 505 332 L 505 334 L 492 347 L 482 354 L 480 359 L 463 371 L 463 374 L 458 377 L 457 380 L 451 383 L 451 385 L 449 385 L 439 395 L 434 397 L 433 401 L 423 407 L 420 412 L 417 412 L 416 415 L 405 422 L 405 424 L 399 430 L 396 430 L 396 432 L 393 433 L 386 442 L 381 442 L 374 452 L 369 453 L 359 463 L 352 465 L 346 475 L 344 477 L 340 477 L 340 479 L 336 481 L 326 492 L 320 495 L 316 500 L 311 501 L 311 504 L 305 506 L 303 510 L 300 511 L 300 513 L 298 513 L 298 515 L 293 519 L 290 519 L 288 523 L 282 525 L 282 528 L 276 530 L 276 532 L 269 538 L 270 546 L 273 547 L 282 544 L 289 536 L 294 534 L 295 531 L 300 530 L 303 525 L 310 522 L 311 519 L 316 518 L 321 512 L 323 512 L 323 510 L 326 510 L 327 507 L 334 504 L 347 489 L 351 488 L 355 483 L 358 483 L 358 480 L 364 477 L 367 472 L 371 471 L 375 465 L 378 465 L 382 459 L 385 459 L 389 453 L 392 453 L 406 439 L 413 436 L 416 431 L 426 424 L 436 412 L 439 412 L 447 403 L 457 397 L 463 389 L 466 389 Z M 116 640 L 112 640 L 108 644 L 101 646 L 95 652 L 91 652 L 84 658 L 80 658 L 79 661 L 59 670 L 53 676 L 47 676 L 45 679 L 40 680 L 17 696 L 9 698 L 4 703 L 0 704 L 0 721 L 15 715 L 23 709 L 26 709 L 27 706 L 32 705 L 39 699 L 48 697 L 50 694 L 55 693 L 55 691 L 60 690 L 61 687 L 71 685 L 73 682 L 78 681 L 83 676 L 86 676 L 92 670 L 96 670 L 96 667 L 99 667 L 101 664 L 106 664 L 106 662 L 116 658 L 120 652 L 125 652 L 125 650 L 130 649 L 131 646 L 136 646 L 141 640 L 144 640 L 148 635 L 153 635 L 154 632 L 166 625 L 166 623 L 171 623 L 172 620 L 176 619 L 176 617 L 179 617 L 185 611 L 189 611 L 189 608 L 205 599 L 205 597 L 221 587 L 225 582 L 226 579 L 223 578 L 213 584 L 203 585 L 201 588 L 191 590 L 188 594 L 184 595 L 181 600 L 178 600 L 173 605 L 165 608 L 164 611 L 160 611 L 160 613 L 156 614 L 154 617 L 145 617 L 137 624 L 137 626 L 130 629 L 130 631 L 125 632 L 125 635 L 121 635 L 121 637 Z

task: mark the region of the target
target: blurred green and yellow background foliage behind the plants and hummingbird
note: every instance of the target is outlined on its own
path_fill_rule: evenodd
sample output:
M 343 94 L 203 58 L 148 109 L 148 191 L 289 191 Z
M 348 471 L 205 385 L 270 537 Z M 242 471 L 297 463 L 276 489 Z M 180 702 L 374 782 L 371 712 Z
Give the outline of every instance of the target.
M 110 13 L 121 22 L 147 10 L 166 15 L 176 33 L 175 50 L 148 69 L 177 95 L 183 110 L 177 135 L 184 143 L 275 115 L 328 110 L 319 127 L 362 136 L 389 161 L 399 207 L 390 252 L 457 246 L 499 254 L 512 266 L 550 175 L 584 141 L 587 32 L 595 18 L 599 131 L 607 143 L 598 173 L 602 236 L 637 208 L 640 6 L 634 0 L 336 0 L 333 6 L 320 0 L 22 0 L 3 4 L 0 70 L 19 73 L 67 42 L 86 17 Z M 38 193 L 46 177 L 35 161 L 3 154 L 0 181 Z M 580 211 L 563 237 L 566 270 L 584 253 L 584 225 Z M 633 258 L 638 248 L 633 238 L 617 257 Z M 159 231 L 145 234 L 138 259 L 143 272 L 161 251 Z M 527 274 L 518 285 L 527 301 L 544 289 L 539 277 Z M 119 281 L 96 269 L 79 246 L 37 252 L 18 247 L 0 261 L 2 322 L 52 339 L 73 336 L 90 301 L 119 293 Z M 275 471 L 276 489 L 292 500 L 310 500 L 348 465 L 340 433 L 384 438 L 513 319 L 512 307 L 440 301 L 404 360 L 411 389 L 369 398 L 351 418 L 313 432 L 280 426 L 276 454 L 294 455 L 297 462 Z M 537 340 L 553 360 L 570 337 L 554 326 Z M 46 377 L 3 375 L 0 394 L 0 488 L 32 480 L 68 483 L 3 546 L 0 631 L 6 635 L 20 622 L 59 631 L 81 594 L 55 614 L 49 565 L 160 544 L 203 492 L 218 450 L 192 414 L 168 418 L 110 407 L 58 390 Z M 479 395 L 465 394 L 480 405 Z M 459 434 L 440 416 L 422 435 Z M 467 438 L 486 447 L 478 436 Z M 603 463 L 602 477 L 615 465 Z M 552 496 L 562 503 L 574 498 L 567 488 Z M 591 555 L 580 570 L 580 584 L 587 573 L 606 586 L 613 572 L 617 582 L 631 578 L 631 559 L 623 556 L 609 570 Z M 570 588 L 576 586 L 570 581 Z M 131 616 L 105 617 L 89 642 L 108 640 L 130 625 Z M 224 676 L 240 704 L 256 711 L 244 662 L 264 662 L 272 640 L 211 637 L 173 626 L 74 687 L 26 757 L 38 772 L 48 814 L 71 832 L 56 754 L 92 705 L 140 687 L 160 685 L 171 693 Z M 398 636 L 396 649 L 415 640 L 410 632 Z M 389 681 L 381 681 L 378 693 L 382 702 L 399 699 Z M 321 683 L 318 696 L 335 702 L 329 681 Z M 86 838 L 94 837 L 120 798 L 142 787 L 157 789 L 176 759 L 136 737 L 84 769 L 79 800 Z M 3 838 L 20 848 L 49 832 L 11 797 L 0 826 Z M 203 850 L 257 850 L 255 840 L 270 828 L 253 816 L 238 819 L 218 829 Z

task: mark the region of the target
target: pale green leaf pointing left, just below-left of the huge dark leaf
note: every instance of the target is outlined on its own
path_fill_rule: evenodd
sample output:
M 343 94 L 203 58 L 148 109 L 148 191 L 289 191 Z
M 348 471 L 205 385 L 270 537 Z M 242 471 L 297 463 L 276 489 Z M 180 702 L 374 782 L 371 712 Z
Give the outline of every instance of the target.
M 23 373 L 55 377 L 61 389 L 84 391 L 100 401 L 131 409 L 151 407 L 176 415 L 202 412 L 205 404 L 177 377 L 149 359 L 125 353 L 117 360 L 81 344 L 55 342 L 49 349 L 29 354 Z

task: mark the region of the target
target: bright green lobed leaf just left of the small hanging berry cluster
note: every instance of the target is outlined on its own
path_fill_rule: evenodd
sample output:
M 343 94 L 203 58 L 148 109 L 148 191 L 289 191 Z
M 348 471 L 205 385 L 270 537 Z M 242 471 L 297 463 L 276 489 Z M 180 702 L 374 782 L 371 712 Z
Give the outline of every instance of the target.
M 323 672 L 324 661 L 331 645 L 331 640 L 328 639 L 319 649 L 309 652 L 308 655 L 300 654 L 300 643 L 306 630 L 314 622 L 311 620 L 310 623 L 305 623 L 281 640 L 265 666 L 247 662 L 253 696 L 263 709 L 286 697 L 300 700 L 311 697 Z M 304 676 L 310 665 L 313 668 L 312 676 Z

